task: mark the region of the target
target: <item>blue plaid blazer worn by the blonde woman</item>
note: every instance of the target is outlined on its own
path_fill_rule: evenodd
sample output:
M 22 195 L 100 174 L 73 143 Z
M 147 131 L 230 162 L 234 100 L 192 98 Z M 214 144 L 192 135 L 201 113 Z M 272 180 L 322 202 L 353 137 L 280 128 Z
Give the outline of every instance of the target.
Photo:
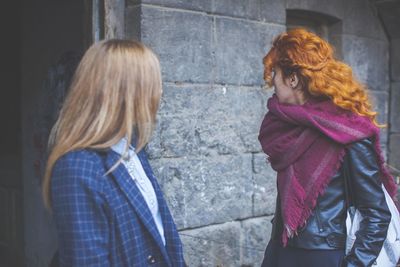
M 146 202 L 119 155 L 79 150 L 54 165 L 51 182 L 60 266 L 185 266 L 182 244 L 145 152 L 138 157 L 157 195 L 163 245 Z

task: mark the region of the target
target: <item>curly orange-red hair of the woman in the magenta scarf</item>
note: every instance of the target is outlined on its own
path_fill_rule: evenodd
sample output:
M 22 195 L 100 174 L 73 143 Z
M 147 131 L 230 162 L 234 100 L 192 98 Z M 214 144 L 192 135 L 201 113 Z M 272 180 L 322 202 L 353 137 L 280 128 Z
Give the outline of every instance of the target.
M 284 77 L 296 73 L 308 95 L 328 97 L 337 106 L 379 125 L 367 88 L 354 78 L 350 66 L 335 59 L 332 46 L 316 34 L 301 28 L 280 34 L 263 63 L 264 80 L 269 86 L 275 67 L 282 70 Z

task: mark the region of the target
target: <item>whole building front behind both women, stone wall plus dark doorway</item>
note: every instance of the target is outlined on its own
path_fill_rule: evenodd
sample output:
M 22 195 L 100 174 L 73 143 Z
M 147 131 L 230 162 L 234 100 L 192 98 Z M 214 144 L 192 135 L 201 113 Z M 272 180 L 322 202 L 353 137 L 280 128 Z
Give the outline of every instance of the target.
M 388 125 L 383 149 L 400 169 L 396 0 L 21 0 L 10 10 L 10 33 L 20 34 L 8 57 L 17 59 L 4 93 L 12 97 L 2 100 L 14 116 L 4 116 L 2 139 L 13 142 L 0 155 L 0 266 L 48 266 L 57 249 L 40 195 L 47 135 L 80 56 L 103 38 L 140 40 L 160 58 L 164 93 L 146 149 L 189 266 L 262 261 L 276 198 L 257 139 L 272 94 L 262 58 L 288 28 L 326 38 L 368 85 Z

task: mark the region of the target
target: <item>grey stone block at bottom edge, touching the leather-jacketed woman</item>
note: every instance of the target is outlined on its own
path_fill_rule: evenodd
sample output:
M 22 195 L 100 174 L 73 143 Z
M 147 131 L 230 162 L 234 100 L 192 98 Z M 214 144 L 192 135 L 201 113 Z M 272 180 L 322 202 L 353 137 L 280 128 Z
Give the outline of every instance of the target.
M 273 216 L 242 221 L 241 266 L 261 266 L 271 237 Z

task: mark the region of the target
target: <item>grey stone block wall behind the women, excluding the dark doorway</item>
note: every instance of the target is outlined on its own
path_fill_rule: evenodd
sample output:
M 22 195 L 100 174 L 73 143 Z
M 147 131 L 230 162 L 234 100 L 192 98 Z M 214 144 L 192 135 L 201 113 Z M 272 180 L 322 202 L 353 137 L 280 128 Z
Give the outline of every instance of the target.
M 189 266 L 262 260 L 276 196 L 257 140 L 271 96 L 262 88 L 262 57 L 286 29 L 289 9 L 338 20 L 330 40 L 387 122 L 389 44 L 367 1 L 127 1 L 127 37 L 161 61 L 164 94 L 148 152 Z M 382 141 L 385 148 L 386 131 Z

